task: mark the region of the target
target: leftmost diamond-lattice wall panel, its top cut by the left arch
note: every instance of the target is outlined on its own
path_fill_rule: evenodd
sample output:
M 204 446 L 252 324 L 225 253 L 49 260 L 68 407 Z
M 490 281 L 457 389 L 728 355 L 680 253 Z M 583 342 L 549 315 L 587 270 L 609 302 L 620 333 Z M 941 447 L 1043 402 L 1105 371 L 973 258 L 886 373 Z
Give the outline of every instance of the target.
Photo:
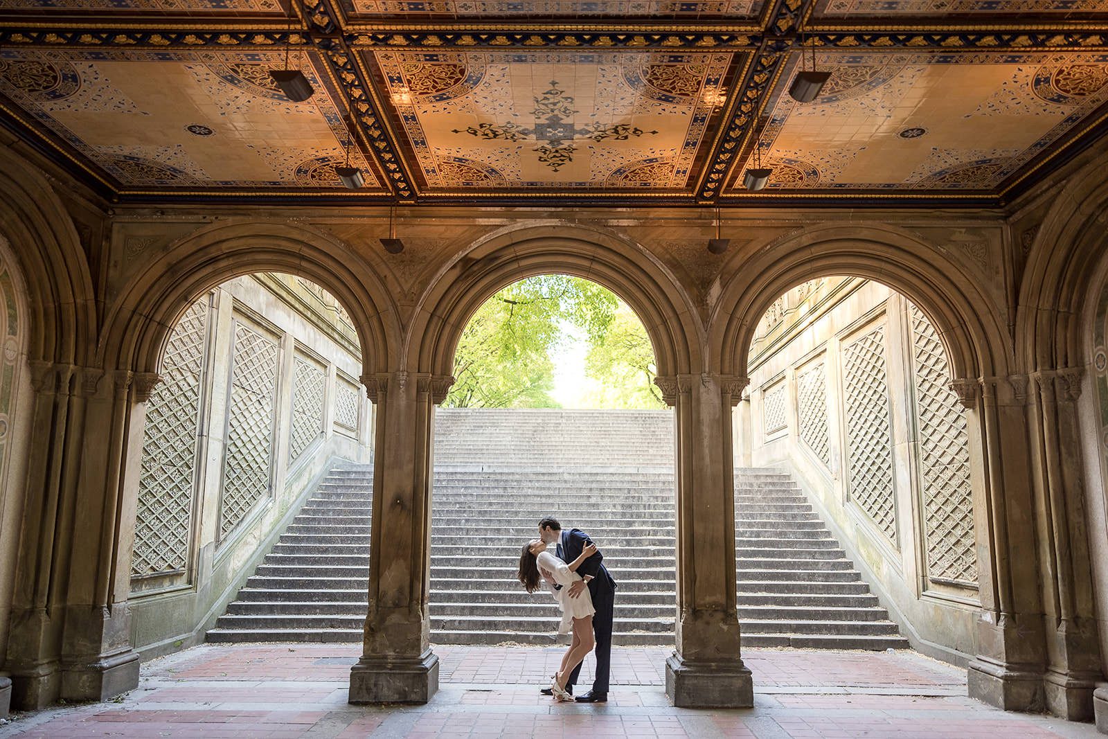
M 162 381 L 146 403 L 133 577 L 181 572 L 188 565 L 207 325 L 204 296 L 170 332 Z

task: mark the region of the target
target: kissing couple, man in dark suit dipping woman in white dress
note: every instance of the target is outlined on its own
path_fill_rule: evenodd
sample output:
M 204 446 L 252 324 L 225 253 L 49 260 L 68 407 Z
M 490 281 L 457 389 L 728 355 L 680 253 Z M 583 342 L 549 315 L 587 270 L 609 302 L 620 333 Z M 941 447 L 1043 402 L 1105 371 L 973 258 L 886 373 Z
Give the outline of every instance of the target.
M 547 547 L 554 544 L 554 554 Z M 552 676 L 545 696 L 556 700 L 574 700 L 585 655 L 596 648 L 596 675 L 593 689 L 577 696 L 578 704 L 603 704 L 608 699 L 608 674 L 612 668 L 612 613 L 616 582 L 603 564 L 604 555 L 579 528 L 562 530 L 555 519 L 538 522 L 538 538 L 523 545 L 519 578 L 527 593 L 540 588 L 540 577 L 562 609 L 558 634 L 573 633 L 570 648 L 562 657 L 558 671 Z

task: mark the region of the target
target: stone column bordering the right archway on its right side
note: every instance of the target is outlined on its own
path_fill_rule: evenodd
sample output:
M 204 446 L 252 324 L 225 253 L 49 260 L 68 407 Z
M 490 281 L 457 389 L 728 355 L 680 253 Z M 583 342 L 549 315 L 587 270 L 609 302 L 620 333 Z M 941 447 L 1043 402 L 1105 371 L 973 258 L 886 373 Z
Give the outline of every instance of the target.
M 971 440 L 982 612 L 972 698 L 1042 710 L 1044 642 L 1024 402 L 1027 378 L 956 380 Z

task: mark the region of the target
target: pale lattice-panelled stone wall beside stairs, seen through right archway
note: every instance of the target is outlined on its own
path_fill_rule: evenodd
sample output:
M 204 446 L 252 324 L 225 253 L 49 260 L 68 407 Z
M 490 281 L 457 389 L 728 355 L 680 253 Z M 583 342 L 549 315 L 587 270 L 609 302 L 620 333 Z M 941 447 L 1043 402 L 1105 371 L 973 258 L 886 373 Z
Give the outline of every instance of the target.
M 981 609 L 965 409 L 931 320 L 873 281 L 821 278 L 762 318 L 750 458 L 789 468 L 913 644 L 966 664 Z

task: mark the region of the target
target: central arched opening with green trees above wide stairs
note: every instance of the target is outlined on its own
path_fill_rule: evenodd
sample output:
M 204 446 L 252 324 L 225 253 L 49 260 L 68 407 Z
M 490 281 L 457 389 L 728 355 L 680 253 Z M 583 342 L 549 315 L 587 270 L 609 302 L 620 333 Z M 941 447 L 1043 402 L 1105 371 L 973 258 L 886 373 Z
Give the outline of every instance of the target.
M 468 296 L 434 428 L 430 626 L 444 679 L 463 674 L 451 659 L 461 644 L 525 644 L 526 661 L 556 668 L 558 605 L 516 579 L 545 516 L 585 531 L 618 583 L 611 633 L 623 679 L 619 647 L 673 644 L 674 415 L 640 314 L 588 277 L 507 274 Z M 582 691 L 599 651 L 585 660 Z M 513 669 L 463 681 L 535 680 Z

